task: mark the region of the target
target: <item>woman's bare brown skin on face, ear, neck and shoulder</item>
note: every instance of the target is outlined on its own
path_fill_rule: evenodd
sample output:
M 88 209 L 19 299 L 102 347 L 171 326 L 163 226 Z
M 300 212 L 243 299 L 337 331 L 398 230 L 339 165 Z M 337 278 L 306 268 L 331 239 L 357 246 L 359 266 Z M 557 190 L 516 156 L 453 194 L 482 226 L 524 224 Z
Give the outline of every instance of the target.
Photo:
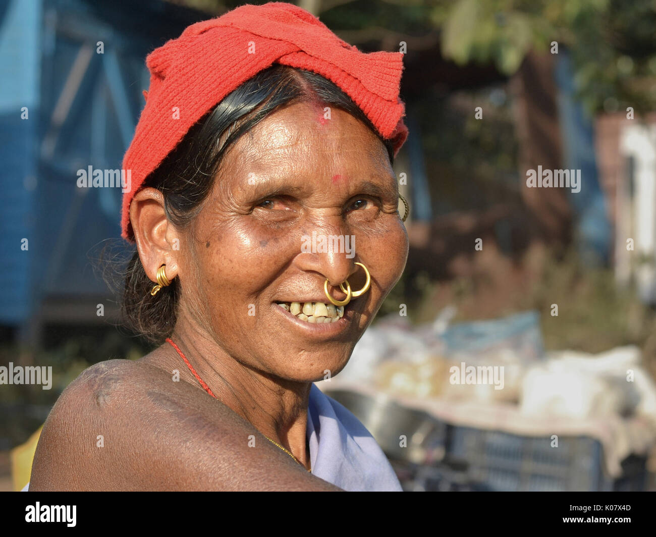
M 407 234 L 380 140 L 342 110 L 325 120 L 316 106 L 293 104 L 238 140 L 189 228 L 167 221 L 153 188 L 134 196 L 130 217 L 150 279 L 163 263 L 169 280 L 180 278 L 171 339 L 218 400 L 168 343 L 135 362 L 96 364 L 52 409 L 30 490 L 338 490 L 262 435 L 310 467 L 310 386 L 344 368 L 401 276 Z M 355 236 L 356 256 L 302 253 L 313 231 Z M 277 301 L 326 302 L 326 278 L 337 299 L 346 279 L 358 290 L 356 261 L 371 289 L 347 306 L 354 315 L 342 332 L 313 335 L 276 310 Z

